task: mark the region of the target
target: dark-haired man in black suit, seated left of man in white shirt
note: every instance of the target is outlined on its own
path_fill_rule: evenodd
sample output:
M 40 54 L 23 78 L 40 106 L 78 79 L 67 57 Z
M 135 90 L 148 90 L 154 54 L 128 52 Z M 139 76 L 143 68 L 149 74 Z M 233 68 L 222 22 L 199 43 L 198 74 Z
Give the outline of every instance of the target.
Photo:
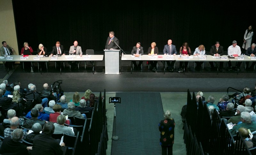
M 223 54 L 224 54 L 223 47 L 220 46 L 220 42 L 219 41 L 216 41 L 215 45 L 213 45 L 211 47 L 211 49 L 210 49 L 210 55 L 212 55 L 212 56 L 220 56 L 220 55 L 223 55 Z M 213 62 L 209 62 L 209 63 L 211 65 L 211 70 L 215 70 Z M 223 69 L 223 62 L 220 62 L 220 72 L 221 73 L 223 73 L 222 69 Z

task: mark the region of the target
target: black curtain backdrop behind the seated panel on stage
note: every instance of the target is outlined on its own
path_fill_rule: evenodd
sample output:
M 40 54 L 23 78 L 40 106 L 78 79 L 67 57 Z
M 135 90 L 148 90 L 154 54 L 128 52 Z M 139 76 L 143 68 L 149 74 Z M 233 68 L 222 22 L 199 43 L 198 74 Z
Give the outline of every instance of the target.
M 13 0 L 19 52 L 24 42 L 34 51 L 40 43 L 51 51 L 56 41 L 65 50 L 78 41 L 83 51 L 102 51 L 109 31 L 115 32 L 127 54 L 138 41 L 145 52 L 151 42 L 163 51 L 168 39 L 177 50 L 188 42 L 192 51 L 200 44 L 209 51 L 220 41 L 227 51 L 233 40 L 242 47 L 245 30 L 256 26 L 250 1 L 87 2 Z

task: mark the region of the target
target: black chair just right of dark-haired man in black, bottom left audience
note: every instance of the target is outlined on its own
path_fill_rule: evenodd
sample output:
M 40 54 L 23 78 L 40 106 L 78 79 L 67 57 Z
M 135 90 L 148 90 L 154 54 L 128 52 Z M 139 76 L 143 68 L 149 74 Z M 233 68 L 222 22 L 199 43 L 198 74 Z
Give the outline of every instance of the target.
M 77 131 L 76 136 L 64 134 L 63 142 L 65 143 L 65 146 L 72 148 L 72 149 L 68 149 L 68 154 L 72 154 L 72 155 L 75 154 L 78 136 L 79 136 L 79 131 Z

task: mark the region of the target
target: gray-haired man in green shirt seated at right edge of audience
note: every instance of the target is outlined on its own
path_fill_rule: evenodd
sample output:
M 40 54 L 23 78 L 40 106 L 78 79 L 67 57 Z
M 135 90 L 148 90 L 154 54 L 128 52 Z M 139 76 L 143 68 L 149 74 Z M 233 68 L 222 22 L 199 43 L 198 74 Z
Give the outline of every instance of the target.
M 242 112 L 240 121 L 242 121 L 241 124 L 235 125 L 233 129 L 230 130 L 231 135 L 236 135 L 236 131 L 241 127 L 250 129 L 251 132 L 256 131 L 256 123 L 252 122 L 252 116 L 250 113 L 246 111 Z

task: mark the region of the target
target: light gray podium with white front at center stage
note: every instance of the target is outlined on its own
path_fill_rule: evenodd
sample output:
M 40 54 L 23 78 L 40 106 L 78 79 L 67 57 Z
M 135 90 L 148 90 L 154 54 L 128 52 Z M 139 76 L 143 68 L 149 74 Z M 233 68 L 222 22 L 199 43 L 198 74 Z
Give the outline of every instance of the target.
M 120 51 L 119 49 L 104 49 L 105 74 L 120 74 L 119 51 Z

